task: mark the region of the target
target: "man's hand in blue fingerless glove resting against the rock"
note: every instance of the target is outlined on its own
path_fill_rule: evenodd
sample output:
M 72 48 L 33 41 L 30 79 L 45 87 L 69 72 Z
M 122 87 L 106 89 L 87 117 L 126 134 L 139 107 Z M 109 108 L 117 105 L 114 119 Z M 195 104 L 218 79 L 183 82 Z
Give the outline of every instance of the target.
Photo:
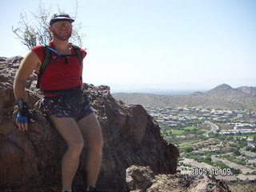
M 34 117 L 30 110 L 27 107 L 22 110 L 19 110 L 15 120 L 18 129 L 26 131 L 28 128 L 29 121 L 34 122 Z

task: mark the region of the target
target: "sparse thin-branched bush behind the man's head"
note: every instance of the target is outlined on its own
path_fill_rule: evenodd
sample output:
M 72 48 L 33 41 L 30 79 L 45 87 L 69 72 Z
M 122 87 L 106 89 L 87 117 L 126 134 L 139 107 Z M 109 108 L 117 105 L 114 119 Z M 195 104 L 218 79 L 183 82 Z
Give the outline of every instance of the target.
M 75 1 L 76 6 L 74 6 L 74 14 L 70 15 L 72 18 L 76 18 L 78 14 L 78 2 Z M 58 12 L 62 12 L 58 8 Z M 20 14 L 20 21 L 18 22 L 18 27 L 12 27 L 14 34 L 18 36 L 18 39 L 25 45 L 29 50 L 31 47 L 44 44 L 52 39 L 52 35 L 48 30 L 50 17 L 55 14 L 50 9 L 46 9 L 42 1 L 38 4 L 38 10 L 31 12 L 34 22 L 28 20 L 27 14 Z M 73 34 L 70 41 L 78 46 L 82 46 L 83 34 L 79 33 L 82 25 L 79 22 L 74 22 L 73 24 Z

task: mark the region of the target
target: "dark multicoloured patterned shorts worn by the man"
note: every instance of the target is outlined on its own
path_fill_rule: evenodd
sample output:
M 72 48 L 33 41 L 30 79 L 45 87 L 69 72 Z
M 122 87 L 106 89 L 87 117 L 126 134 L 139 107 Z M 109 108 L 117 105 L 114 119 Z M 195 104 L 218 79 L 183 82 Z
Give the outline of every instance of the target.
M 56 118 L 74 118 L 77 122 L 94 113 L 87 100 L 79 106 L 64 106 L 60 100 L 42 98 L 40 108 L 46 117 L 54 115 Z

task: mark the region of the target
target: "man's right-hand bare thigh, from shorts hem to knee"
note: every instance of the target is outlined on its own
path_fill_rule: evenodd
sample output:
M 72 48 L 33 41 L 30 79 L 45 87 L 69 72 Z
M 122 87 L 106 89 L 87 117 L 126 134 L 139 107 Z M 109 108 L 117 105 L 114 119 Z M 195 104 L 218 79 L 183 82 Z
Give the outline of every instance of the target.
M 88 147 L 98 146 L 98 142 L 102 142 L 102 128 L 94 113 L 82 118 L 78 122 L 78 126 Z

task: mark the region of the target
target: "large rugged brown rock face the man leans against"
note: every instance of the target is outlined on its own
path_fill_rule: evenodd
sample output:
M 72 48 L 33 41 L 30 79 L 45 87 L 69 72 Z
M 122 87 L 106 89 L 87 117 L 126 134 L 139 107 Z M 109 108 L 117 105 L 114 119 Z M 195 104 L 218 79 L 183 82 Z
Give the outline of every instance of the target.
M 21 57 L 0 58 L 0 190 L 58 191 L 66 143 L 38 110 L 41 96 L 34 75 L 26 83 L 26 93 L 35 123 L 26 132 L 14 124 L 13 82 L 21 61 Z M 126 169 L 134 164 L 148 166 L 154 174 L 176 173 L 178 149 L 161 137 L 158 124 L 142 106 L 117 102 L 108 86 L 85 84 L 83 91 L 96 111 L 104 138 L 99 190 L 130 190 Z M 74 179 L 75 191 L 86 185 L 85 158 L 86 147 Z

